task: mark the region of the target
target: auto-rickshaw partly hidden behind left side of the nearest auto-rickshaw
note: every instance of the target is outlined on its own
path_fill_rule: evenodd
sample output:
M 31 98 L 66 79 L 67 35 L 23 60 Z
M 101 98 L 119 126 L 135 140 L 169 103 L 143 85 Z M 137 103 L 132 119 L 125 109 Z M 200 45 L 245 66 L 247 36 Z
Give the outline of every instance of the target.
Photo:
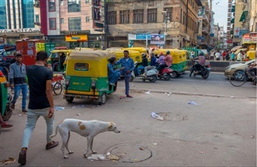
M 69 56 L 71 50 L 53 50 L 47 60 L 47 64 L 51 64 L 53 71 L 65 71 L 65 59 Z

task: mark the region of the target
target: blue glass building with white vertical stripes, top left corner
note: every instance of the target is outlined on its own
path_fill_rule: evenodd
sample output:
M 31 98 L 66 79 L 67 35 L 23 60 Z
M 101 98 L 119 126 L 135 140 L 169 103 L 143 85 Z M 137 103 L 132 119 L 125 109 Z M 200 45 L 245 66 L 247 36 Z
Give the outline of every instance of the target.
M 35 27 L 35 17 L 32 0 L 1 0 L 0 1 L 0 41 L 14 44 L 16 39 L 42 36 L 40 28 Z

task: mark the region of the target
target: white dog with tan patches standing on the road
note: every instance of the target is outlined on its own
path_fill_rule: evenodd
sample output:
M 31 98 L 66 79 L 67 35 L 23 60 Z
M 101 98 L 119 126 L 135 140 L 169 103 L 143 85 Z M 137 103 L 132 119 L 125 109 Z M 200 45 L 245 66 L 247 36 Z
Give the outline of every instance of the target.
M 72 154 L 73 151 L 70 151 L 68 148 L 68 142 L 69 142 L 69 136 L 70 131 L 76 132 L 80 134 L 82 137 L 88 138 L 88 149 L 85 150 L 84 157 L 87 157 L 87 153 L 89 150 L 92 151 L 93 154 L 96 154 L 97 152 L 95 150 L 92 150 L 94 137 L 97 136 L 97 134 L 101 132 L 106 131 L 113 131 L 115 133 L 119 133 L 120 131 L 117 129 L 117 126 L 113 122 L 103 122 L 103 121 L 82 121 L 78 119 L 65 119 L 61 123 L 59 123 L 56 126 L 56 133 L 52 134 L 50 137 L 53 138 L 56 136 L 56 134 L 60 133 L 60 137 L 63 139 L 63 146 L 61 148 L 63 152 L 63 156 L 65 159 L 69 158 L 69 156 L 65 155 L 65 148 L 69 152 L 69 154 Z

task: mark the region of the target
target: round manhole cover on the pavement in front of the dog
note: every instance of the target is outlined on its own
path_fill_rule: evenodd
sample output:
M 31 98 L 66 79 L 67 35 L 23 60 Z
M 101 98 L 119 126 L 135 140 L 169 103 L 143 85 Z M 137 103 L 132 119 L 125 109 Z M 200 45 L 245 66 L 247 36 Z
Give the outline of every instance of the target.
M 136 143 L 124 143 L 112 146 L 106 150 L 106 153 L 107 152 L 120 157 L 119 161 L 126 163 L 145 161 L 152 156 L 152 152 L 149 148 Z

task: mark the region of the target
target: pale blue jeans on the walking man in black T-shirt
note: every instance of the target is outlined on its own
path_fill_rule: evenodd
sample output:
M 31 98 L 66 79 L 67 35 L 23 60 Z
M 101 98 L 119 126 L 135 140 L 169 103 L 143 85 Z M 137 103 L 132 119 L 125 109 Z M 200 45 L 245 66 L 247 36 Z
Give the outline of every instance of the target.
M 22 148 L 28 148 L 28 143 L 31 139 L 31 134 L 35 128 L 35 123 L 37 123 L 40 116 L 44 117 L 44 120 L 47 123 L 47 143 L 51 143 L 51 134 L 53 134 L 54 126 L 54 115 L 51 118 L 48 118 L 49 108 L 44 109 L 28 109 L 27 113 L 27 123 L 26 128 L 23 134 Z

